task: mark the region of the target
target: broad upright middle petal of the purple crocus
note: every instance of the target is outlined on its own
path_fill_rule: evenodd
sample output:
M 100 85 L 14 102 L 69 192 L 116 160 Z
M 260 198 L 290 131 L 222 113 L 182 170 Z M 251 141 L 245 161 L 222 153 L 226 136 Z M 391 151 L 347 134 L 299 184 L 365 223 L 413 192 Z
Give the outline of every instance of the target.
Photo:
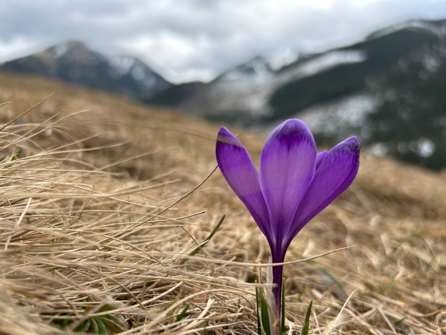
M 300 120 L 285 121 L 265 143 L 260 158 L 260 185 L 277 248 L 284 243 L 284 233 L 289 231 L 296 209 L 313 179 L 315 161 L 313 135 Z

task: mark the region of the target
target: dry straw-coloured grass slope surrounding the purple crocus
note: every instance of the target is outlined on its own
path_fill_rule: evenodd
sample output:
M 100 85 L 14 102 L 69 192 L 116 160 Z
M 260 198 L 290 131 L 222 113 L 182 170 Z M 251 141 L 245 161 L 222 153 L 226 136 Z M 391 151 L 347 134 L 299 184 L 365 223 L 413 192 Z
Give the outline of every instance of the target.
M 220 125 L 39 78 L 0 87 L 1 335 L 256 334 L 269 248 L 213 172 Z M 231 130 L 258 162 L 265 138 Z M 361 153 L 287 253 L 290 334 L 310 300 L 310 334 L 446 334 L 445 177 Z

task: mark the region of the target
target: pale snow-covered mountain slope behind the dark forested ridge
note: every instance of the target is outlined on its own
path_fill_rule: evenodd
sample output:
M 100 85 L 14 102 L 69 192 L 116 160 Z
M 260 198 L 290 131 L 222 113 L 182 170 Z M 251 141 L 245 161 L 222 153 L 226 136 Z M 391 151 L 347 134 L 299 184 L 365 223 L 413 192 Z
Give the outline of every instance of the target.
M 220 115 L 231 115 L 233 119 L 245 119 L 247 115 L 250 118 L 263 118 L 273 112 L 271 97 L 283 85 L 335 66 L 360 63 L 366 58 L 367 55 L 361 50 L 334 50 L 301 57 L 295 63 L 273 70 L 269 60 L 257 56 L 224 72 L 209 84 L 176 85 L 155 96 L 149 103 L 186 108 L 196 114 L 216 119 Z M 187 88 L 190 94 L 177 99 L 177 91 L 183 91 L 188 86 L 191 86 Z M 194 93 L 194 89 L 199 91 Z M 194 103 L 191 103 L 192 100 Z

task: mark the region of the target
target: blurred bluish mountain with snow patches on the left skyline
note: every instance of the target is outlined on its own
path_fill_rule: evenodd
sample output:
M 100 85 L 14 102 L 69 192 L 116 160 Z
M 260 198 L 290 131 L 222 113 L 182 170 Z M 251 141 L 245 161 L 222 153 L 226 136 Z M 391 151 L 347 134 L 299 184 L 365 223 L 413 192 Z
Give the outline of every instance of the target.
M 63 42 L 3 63 L 0 70 L 39 74 L 137 100 L 149 99 L 171 85 L 134 57 L 107 58 L 78 41 Z

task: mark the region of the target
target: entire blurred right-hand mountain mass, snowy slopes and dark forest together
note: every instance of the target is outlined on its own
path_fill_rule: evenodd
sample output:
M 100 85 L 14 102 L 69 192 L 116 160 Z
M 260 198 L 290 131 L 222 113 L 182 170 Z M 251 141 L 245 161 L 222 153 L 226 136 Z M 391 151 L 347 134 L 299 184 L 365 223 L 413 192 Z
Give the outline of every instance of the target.
M 258 56 L 211 83 L 173 85 L 149 102 L 241 126 L 298 117 L 321 144 L 357 134 L 377 154 L 440 169 L 445 91 L 446 20 L 409 20 L 281 68 Z

